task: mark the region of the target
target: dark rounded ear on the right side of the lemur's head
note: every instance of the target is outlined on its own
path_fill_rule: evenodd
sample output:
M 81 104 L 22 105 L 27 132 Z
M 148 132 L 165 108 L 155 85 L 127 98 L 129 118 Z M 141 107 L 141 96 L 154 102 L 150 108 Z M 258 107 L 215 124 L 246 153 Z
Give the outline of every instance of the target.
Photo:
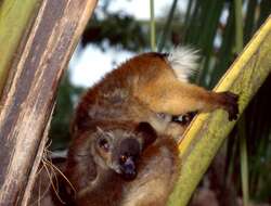
M 157 133 L 154 128 L 145 121 L 140 123 L 136 127 L 136 132 L 139 137 L 142 138 L 143 150 L 152 144 L 157 138 Z

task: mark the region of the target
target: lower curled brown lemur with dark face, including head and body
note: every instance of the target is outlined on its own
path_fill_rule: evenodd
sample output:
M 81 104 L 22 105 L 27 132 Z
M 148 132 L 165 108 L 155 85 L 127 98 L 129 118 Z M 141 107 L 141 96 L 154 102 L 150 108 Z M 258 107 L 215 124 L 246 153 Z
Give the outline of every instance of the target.
M 175 140 L 149 123 L 95 121 L 73 139 L 62 198 L 66 205 L 166 204 L 178 171 Z M 62 186 L 63 188 L 63 186 Z

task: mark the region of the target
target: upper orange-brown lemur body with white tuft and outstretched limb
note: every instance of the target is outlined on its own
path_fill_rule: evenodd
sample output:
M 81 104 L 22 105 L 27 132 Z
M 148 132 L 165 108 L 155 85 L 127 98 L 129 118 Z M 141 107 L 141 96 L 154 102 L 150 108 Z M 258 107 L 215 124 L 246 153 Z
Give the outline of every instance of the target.
M 169 54 L 143 53 L 107 74 L 79 102 L 73 133 L 94 119 L 150 123 L 158 133 L 180 137 L 191 114 L 223 108 L 237 118 L 237 95 L 212 92 L 188 82 L 196 67 L 196 52 L 180 47 Z M 179 116 L 179 124 L 172 117 Z M 80 131 L 81 130 L 81 131 Z

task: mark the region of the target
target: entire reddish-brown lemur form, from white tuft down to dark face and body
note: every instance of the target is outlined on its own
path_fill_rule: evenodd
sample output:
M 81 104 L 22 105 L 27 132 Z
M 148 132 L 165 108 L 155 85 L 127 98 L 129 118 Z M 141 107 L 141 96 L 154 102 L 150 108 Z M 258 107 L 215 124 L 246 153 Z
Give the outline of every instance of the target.
M 76 108 L 65 169 L 74 189 L 60 181 L 66 205 L 166 204 L 178 173 L 173 138 L 194 113 L 223 108 L 230 120 L 238 113 L 236 94 L 188 82 L 196 60 L 189 48 L 144 53 L 87 91 Z

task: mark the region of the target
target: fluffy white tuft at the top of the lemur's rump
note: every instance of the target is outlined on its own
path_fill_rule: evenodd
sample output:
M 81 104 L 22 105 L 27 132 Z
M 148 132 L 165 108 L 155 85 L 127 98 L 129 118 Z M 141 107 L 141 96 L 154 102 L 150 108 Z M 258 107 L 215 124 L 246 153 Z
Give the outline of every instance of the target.
M 177 47 L 167 56 L 167 61 L 175 70 L 177 78 L 185 82 L 189 81 L 191 75 L 198 67 L 198 51 L 190 47 Z

